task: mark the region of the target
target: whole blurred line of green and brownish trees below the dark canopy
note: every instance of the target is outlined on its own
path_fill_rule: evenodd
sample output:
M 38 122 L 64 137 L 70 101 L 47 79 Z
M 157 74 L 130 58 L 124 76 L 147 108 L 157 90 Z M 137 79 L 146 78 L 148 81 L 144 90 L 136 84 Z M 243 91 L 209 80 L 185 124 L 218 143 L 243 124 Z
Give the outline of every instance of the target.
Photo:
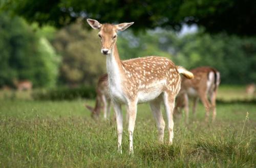
M 17 16 L 0 14 L 0 87 L 15 79 L 30 80 L 35 87 L 93 86 L 106 72 L 97 31 L 81 22 L 56 30 L 38 28 Z M 256 81 L 256 38 L 210 35 L 199 30 L 184 36 L 163 29 L 118 34 L 122 59 L 149 55 L 172 59 L 188 69 L 213 66 L 222 83 Z

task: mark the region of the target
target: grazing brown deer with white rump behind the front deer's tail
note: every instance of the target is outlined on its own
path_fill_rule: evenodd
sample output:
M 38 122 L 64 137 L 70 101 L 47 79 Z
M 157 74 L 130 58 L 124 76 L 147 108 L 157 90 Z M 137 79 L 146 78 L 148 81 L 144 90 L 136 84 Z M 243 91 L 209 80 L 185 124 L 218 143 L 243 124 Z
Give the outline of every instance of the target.
M 198 99 L 200 98 L 206 113 L 205 120 L 208 121 L 209 111 L 212 110 L 212 121 L 216 117 L 216 95 L 220 84 L 220 73 L 211 67 L 198 67 L 190 70 L 194 79 L 182 79 L 181 89 L 177 96 L 175 113 L 185 108 L 185 121 L 188 123 L 188 97 L 193 98 L 193 114 L 196 114 Z M 208 101 L 208 96 L 210 102 Z M 179 109 L 180 108 L 180 109 Z

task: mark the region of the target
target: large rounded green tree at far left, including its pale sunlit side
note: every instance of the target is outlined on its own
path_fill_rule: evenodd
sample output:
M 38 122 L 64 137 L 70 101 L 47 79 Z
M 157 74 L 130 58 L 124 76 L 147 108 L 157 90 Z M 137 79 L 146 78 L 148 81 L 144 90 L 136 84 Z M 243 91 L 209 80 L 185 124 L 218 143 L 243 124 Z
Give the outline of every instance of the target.
M 24 19 L 0 14 L 0 87 L 16 80 L 33 86 L 54 86 L 58 58 L 51 44 L 40 38 Z

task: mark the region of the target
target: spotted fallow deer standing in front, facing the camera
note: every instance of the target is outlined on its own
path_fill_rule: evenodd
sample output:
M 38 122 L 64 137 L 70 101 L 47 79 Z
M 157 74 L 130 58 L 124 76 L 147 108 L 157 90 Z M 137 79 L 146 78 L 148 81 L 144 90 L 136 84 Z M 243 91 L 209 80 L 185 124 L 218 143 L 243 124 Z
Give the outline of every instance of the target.
M 163 101 L 168 122 L 168 142 L 172 144 L 174 137 L 173 109 L 175 97 L 180 90 L 180 74 L 189 79 L 193 78 L 193 74 L 163 57 L 150 56 L 121 61 L 116 44 L 117 32 L 125 30 L 134 22 L 111 25 L 101 24 L 93 19 L 87 19 L 87 21 L 93 29 L 99 30 L 101 53 L 106 56 L 110 95 L 116 112 L 118 151 L 122 153 L 122 104 L 126 105 L 129 114 L 130 154 L 133 154 L 133 133 L 138 103 L 150 102 L 157 122 L 159 140 L 163 142 L 165 123 L 160 108 Z

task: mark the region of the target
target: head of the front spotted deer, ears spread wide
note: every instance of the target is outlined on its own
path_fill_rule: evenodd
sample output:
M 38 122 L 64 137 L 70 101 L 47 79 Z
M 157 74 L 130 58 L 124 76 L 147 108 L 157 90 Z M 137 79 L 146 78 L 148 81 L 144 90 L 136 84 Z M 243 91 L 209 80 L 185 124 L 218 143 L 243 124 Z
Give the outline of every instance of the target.
M 119 25 L 101 24 L 97 20 L 87 19 L 87 22 L 93 29 L 99 30 L 99 38 L 101 41 L 101 53 L 109 55 L 113 51 L 113 47 L 117 41 L 117 32 L 123 31 L 133 25 L 134 22 L 120 23 Z

